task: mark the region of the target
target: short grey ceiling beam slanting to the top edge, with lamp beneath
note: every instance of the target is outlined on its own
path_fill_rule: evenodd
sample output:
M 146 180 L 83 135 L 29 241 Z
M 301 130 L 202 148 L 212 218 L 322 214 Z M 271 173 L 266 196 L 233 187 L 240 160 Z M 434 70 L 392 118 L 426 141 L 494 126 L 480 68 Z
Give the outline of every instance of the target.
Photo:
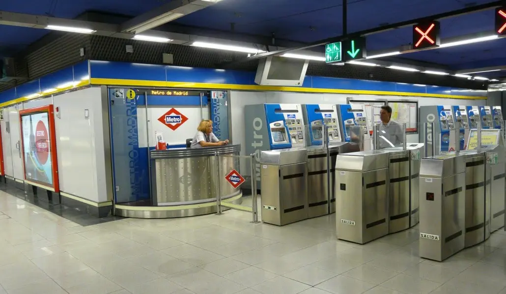
M 172 0 L 120 25 L 121 32 L 139 34 L 185 15 L 213 6 L 216 1 Z

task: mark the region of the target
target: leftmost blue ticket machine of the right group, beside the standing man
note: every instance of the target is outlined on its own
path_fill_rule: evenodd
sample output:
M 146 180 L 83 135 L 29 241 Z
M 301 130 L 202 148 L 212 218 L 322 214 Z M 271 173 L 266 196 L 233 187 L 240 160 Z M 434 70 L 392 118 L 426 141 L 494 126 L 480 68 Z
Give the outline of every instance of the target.
M 427 127 L 427 137 L 428 142 L 432 142 L 432 137 L 434 137 L 434 144 L 436 145 L 435 150 L 440 150 L 442 152 L 452 152 L 455 151 L 455 148 L 460 147 L 460 144 L 457 146 L 457 134 L 455 130 L 455 118 L 454 118 L 454 110 L 450 105 L 433 105 L 433 106 L 420 106 L 420 123 L 422 126 L 427 123 L 433 123 L 434 129 L 430 129 Z M 425 141 L 425 129 L 426 127 L 421 128 L 420 132 L 420 141 Z M 430 145 L 431 143 L 428 143 Z M 431 146 L 428 146 L 428 153 L 432 152 Z M 432 156 L 433 154 L 427 154 L 427 156 Z

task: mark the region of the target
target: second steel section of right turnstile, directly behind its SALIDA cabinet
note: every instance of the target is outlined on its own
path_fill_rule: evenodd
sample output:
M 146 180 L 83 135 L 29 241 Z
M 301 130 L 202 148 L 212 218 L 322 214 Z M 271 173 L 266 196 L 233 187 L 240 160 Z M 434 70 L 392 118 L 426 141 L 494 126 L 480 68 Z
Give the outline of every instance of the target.
M 485 230 L 490 235 L 490 173 L 485 172 L 485 152 L 461 151 L 466 157 L 466 232 L 464 247 L 471 247 L 485 241 Z M 486 198 L 489 200 L 486 201 Z M 486 218 L 488 215 L 488 219 Z

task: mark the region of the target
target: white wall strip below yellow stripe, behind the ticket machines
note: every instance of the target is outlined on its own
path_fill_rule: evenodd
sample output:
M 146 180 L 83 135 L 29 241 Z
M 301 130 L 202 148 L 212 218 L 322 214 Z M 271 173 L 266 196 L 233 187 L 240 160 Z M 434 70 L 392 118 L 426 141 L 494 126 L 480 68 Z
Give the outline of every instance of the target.
M 230 104 L 232 107 L 232 138 L 234 144 L 244 146 L 244 105 L 261 103 L 294 103 L 294 104 L 346 104 L 347 97 L 357 100 L 412 100 L 418 101 L 418 106 L 425 105 L 485 105 L 486 100 L 449 99 L 435 97 L 404 97 L 356 94 L 320 94 L 320 93 L 294 93 L 294 92 L 246 92 L 231 91 Z M 418 135 L 408 135 L 408 142 L 418 142 Z M 241 155 L 244 148 L 241 148 Z

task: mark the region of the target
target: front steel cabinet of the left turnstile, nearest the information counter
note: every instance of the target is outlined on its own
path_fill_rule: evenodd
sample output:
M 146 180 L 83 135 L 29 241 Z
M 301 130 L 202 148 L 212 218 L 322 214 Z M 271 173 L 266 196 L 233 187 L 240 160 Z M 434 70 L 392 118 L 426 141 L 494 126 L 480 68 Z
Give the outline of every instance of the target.
M 285 225 L 308 218 L 307 150 L 262 151 L 262 221 Z

